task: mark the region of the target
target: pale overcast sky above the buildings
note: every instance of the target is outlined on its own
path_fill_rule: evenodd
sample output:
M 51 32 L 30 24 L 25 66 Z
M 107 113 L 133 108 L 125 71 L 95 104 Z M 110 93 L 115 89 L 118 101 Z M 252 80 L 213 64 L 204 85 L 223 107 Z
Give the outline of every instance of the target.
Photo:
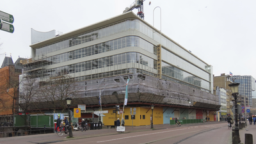
M 0 31 L 0 63 L 29 58 L 31 28 L 63 34 L 122 14 L 134 0 L 1 0 L 0 11 L 14 17 L 14 33 Z M 151 5 L 148 3 L 151 1 Z M 160 27 L 160 9 L 162 26 Z M 146 0 L 145 20 L 221 73 L 256 78 L 255 0 Z M 137 13 L 138 10 L 133 10 Z

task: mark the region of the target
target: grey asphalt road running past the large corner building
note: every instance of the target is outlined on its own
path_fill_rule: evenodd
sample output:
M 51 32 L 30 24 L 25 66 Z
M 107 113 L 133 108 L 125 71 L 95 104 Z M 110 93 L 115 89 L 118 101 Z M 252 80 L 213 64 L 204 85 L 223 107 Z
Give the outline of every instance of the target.
M 225 143 L 231 141 L 232 130 L 226 123 L 175 127 L 155 131 L 120 133 L 115 135 L 83 138 L 78 140 L 60 141 L 57 143 Z

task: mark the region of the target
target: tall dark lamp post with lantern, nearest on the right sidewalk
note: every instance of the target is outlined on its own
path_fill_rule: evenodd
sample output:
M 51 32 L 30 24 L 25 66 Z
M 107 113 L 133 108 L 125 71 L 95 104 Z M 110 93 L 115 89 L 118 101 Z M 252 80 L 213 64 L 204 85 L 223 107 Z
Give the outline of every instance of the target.
M 236 123 L 235 123 L 235 136 L 237 136 L 237 142 L 240 143 L 241 140 L 240 140 L 240 136 L 239 136 L 239 127 L 238 127 L 238 123 L 237 123 L 237 95 L 239 94 L 238 93 L 238 86 L 239 86 L 239 83 L 230 83 L 228 84 L 228 86 L 230 87 L 231 91 L 232 91 L 232 95 L 235 99 L 235 119 L 236 119 Z

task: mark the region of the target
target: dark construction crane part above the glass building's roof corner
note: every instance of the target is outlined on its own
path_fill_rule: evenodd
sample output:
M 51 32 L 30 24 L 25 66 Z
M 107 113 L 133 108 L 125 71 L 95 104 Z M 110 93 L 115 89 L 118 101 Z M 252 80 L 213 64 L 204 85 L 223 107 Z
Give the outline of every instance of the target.
M 130 7 L 126 7 L 123 13 L 129 12 L 134 10 L 134 8 L 138 9 L 137 15 L 141 18 L 144 19 L 144 12 L 143 12 L 143 1 L 145 0 L 135 0 Z

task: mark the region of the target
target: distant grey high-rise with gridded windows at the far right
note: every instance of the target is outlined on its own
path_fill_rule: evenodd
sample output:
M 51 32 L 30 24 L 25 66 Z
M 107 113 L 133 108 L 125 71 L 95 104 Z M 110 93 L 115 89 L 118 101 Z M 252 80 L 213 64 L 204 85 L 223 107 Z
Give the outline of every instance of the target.
M 238 93 L 248 97 L 248 103 L 252 106 L 252 91 L 255 91 L 255 78 L 252 76 L 232 76 L 231 81 L 240 83 Z

